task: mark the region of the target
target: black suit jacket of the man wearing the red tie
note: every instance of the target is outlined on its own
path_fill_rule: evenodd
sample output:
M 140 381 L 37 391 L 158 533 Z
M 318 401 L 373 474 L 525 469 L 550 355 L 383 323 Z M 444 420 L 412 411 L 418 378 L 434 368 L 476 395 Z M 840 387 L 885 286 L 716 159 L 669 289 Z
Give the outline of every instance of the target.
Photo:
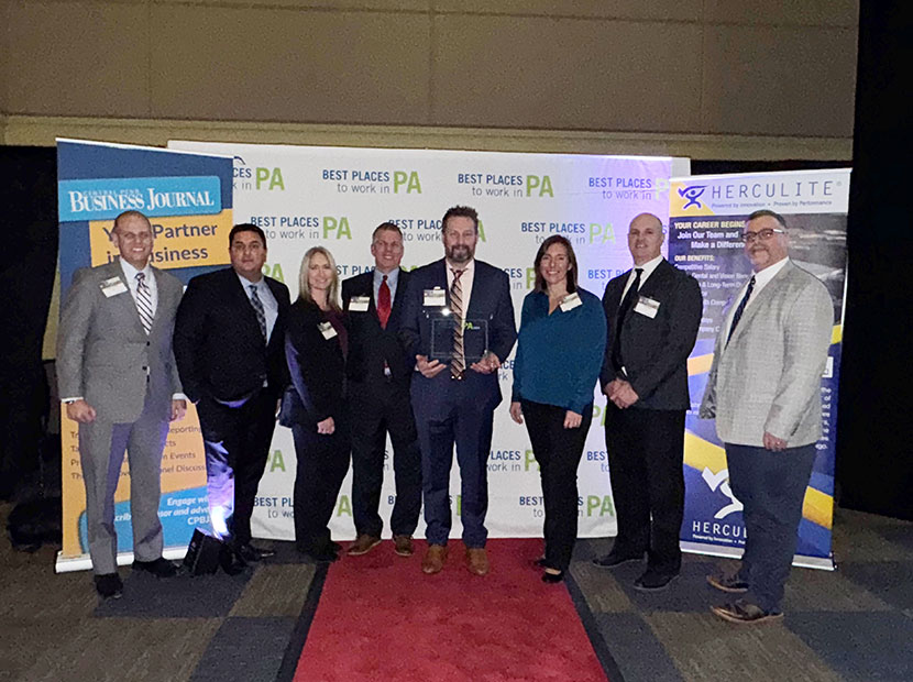
M 362 273 L 342 282 L 342 305 L 345 308 L 349 327 L 349 358 L 345 374 L 353 382 L 385 383 L 384 362 L 391 371 L 394 383 L 408 387 L 413 377 L 415 358 L 409 362 L 406 349 L 398 339 L 399 322 L 403 318 L 403 301 L 409 273 L 399 270 L 396 297 L 393 299 L 387 327 L 381 327 L 377 319 L 377 301 L 374 300 L 374 273 Z M 367 296 L 367 310 L 352 311 L 350 301 L 355 296 Z

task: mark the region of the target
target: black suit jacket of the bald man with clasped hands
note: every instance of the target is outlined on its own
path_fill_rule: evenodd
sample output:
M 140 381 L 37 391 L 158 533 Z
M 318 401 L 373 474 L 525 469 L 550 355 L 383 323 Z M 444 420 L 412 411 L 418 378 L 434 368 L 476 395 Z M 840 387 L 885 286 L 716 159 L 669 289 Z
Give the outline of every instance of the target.
M 607 334 L 600 384 L 615 377 L 612 348 L 619 333 L 622 358 L 628 382 L 640 397 L 632 407 L 645 409 L 689 409 L 688 356 L 694 348 L 704 299 L 697 280 L 662 260 L 641 287 L 639 295 L 659 301 L 654 318 L 628 310 L 618 320 L 622 293 L 630 271 L 609 280 L 603 295 Z M 636 300 L 635 300 L 636 302 Z

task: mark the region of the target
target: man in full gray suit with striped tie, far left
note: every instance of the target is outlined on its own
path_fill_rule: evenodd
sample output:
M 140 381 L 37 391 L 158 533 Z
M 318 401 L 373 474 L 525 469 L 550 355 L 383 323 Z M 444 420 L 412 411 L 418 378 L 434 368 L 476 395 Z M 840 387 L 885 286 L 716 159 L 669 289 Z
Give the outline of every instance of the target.
M 134 570 L 175 574 L 162 558 L 158 520 L 162 451 L 168 421 L 187 403 L 172 353 L 180 282 L 150 264 L 152 227 L 138 211 L 114 220 L 120 257 L 78 271 L 61 314 L 57 383 L 67 416 L 79 422 L 89 554 L 96 590 L 119 597 L 114 491 L 130 460 Z

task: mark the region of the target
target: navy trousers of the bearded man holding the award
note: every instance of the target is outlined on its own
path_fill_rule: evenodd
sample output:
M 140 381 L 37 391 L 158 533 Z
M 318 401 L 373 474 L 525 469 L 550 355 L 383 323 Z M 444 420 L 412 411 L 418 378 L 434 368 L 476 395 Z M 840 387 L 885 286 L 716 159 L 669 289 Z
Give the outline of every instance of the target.
M 417 380 L 420 381 L 420 380 Z M 443 405 L 428 406 L 416 395 L 413 383 L 413 409 L 421 448 L 421 488 L 425 501 L 425 537 L 429 544 L 447 544 L 450 515 L 450 469 L 453 447 L 460 465 L 460 517 L 463 542 L 470 549 L 485 547 L 488 530 L 488 452 L 492 448 L 494 410 L 472 395 L 472 387 L 451 382 Z M 433 416 L 431 416 L 433 415 Z

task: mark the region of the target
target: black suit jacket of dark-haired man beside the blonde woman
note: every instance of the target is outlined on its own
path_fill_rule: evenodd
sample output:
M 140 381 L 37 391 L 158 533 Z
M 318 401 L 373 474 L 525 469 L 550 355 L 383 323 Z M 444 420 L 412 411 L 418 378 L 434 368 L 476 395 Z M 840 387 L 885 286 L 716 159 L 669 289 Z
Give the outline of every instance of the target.
M 268 344 L 264 342 L 248 293 L 231 267 L 190 279 L 177 309 L 174 352 L 184 393 L 244 400 L 263 387 L 278 398 L 288 384 L 283 352 L 288 318 L 288 287 L 266 277 L 279 311 Z

